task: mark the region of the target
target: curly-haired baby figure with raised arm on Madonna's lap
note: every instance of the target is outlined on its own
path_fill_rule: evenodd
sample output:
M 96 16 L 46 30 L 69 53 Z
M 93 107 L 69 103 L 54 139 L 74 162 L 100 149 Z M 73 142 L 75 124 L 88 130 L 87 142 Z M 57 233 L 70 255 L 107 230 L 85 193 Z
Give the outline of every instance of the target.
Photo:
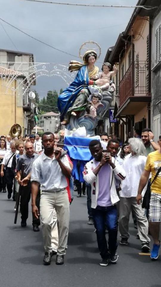
M 112 71 L 110 71 L 110 69 L 111 69 L 111 64 L 108 62 L 105 62 L 105 63 L 103 63 L 103 72 L 99 72 L 93 78 L 91 78 L 91 80 L 94 80 L 94 81 L 97 79 L 105 79 L 106 80 L 106 83 L 104 83 L 103 85 L 102 85 L 102 83 L 97 84 L 97 86 L 100 86 L 100 88 L 102 90 L 107 90 L 109 88 L 109 85 L 110 85 L 109 82 L 111 80 L 111 77 L 116 75 L 116 73 L 117 73 L 117 68 L 115 65 L 113 66 Z

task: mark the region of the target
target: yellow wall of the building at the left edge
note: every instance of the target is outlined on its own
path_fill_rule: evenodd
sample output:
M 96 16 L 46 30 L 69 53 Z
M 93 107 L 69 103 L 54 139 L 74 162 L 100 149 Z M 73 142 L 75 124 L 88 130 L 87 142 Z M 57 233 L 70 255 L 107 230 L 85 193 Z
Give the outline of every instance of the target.
M 0 135 L 7 134 L 14 123 L 18 123 L 24 130 L 24 112 L 23 107 L 16 106 L 15 117 L 15 85 L 16 80 L 13 81 L 10 88 L 6 92 L 6 86 L 0 78 Z M 13 90 L 12 90 L 13 89 Z

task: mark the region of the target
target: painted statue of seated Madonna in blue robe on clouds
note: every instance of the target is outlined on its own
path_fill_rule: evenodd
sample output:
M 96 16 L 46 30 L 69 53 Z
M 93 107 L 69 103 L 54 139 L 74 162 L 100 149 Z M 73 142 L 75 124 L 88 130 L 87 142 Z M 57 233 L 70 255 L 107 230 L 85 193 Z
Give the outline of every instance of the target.
M 99 47 L 98 44 L 97 46 Z M 109 72 L 108 70 L 108 73 L 107 71 L 103 71 L 103 73 L 100 74 L 99 68 L 95 66 L 95 62 L 99 56 L 100 53 L 97 56 L 97 53 L 94 49 L 88 50 L 85 51 L 82 56 L 83 63 L 78 61 L 71 61 L 69 63 L 69 71 L 78 71 L 78 73 L 75 77 L 75 80 L 58 97 L 58 109 L 61 113 L 61 124 L 66 125 L 67 129 L 85 126 L 87 133 L 90 135 L 95 135 L 94 129 L 97 125 L 97 121 L 101 118 L 102 112 L 105 112 L 107 109 L 109 109 L 110 103 L 112 101 L 112 92 L 115 90 L 114 82 L 110 81 L 111 74 L 109 73 L 113 73 L 114 71 Z M 95 81 L 91 79 L 95 79 Z M 109 87 L 107 88 L 106 86 L 105 89 L 102 89 L 101 86 L 106 84 L 109 84 Z M 93 121 L 90 121 L 89 123 L 90 119 L 84 117 L 84 115 L 87 115 L 86 107 L 89 104 L 89 96 L 93 93 L 102 94 L 102 103 L 99 102 L 99 107 L 97 106 L 99 115 L 97 113 L 97 117 L 93 117 L 91 119 Z M 96 100 L 97 102 L 99 101 L 98 99 Z M 94 103 L 91 104 L 94 106 Z

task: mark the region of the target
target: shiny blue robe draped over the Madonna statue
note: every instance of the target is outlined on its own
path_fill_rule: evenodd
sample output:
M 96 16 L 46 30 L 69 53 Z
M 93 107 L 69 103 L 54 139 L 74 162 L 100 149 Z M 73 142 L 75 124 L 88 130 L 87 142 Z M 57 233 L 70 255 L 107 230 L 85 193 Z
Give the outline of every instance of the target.
M 79 92 L 83 88 L 88 89 L 88 85 L 89 85 L 88 66 L 83 65 L 79 69 L 75 77 L 75 80 L 58 97 L 58 109 L 61 113 L 61 120 L 64 119 L 66 112 L 75 102 Z

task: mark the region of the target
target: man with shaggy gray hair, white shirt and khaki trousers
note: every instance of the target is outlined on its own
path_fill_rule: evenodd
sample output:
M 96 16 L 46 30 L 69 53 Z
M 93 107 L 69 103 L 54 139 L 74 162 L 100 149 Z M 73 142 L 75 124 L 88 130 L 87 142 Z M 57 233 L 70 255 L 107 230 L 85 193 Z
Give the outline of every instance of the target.
M 123 162 L 123 169 L 127 176 L 122 183 L 120 191 L 120 216 L 119 230 L 121 234 L 121 245 L 128 245 L 129 239 L 129 216 L 131 210 L 134 211 L 137 218 L 137 228 L 141 240 L 141 250 L 148 252 L 150 250 L 148 237 L 148 219 L 144 214 L 141 205 L 137 204 L 136 196 L 139 187 L 141 174 L 146 163 L 145 146 L 141 139 L 129 139 L 129 152 Z M 143 194 L 145 193 L 144 187 Z

